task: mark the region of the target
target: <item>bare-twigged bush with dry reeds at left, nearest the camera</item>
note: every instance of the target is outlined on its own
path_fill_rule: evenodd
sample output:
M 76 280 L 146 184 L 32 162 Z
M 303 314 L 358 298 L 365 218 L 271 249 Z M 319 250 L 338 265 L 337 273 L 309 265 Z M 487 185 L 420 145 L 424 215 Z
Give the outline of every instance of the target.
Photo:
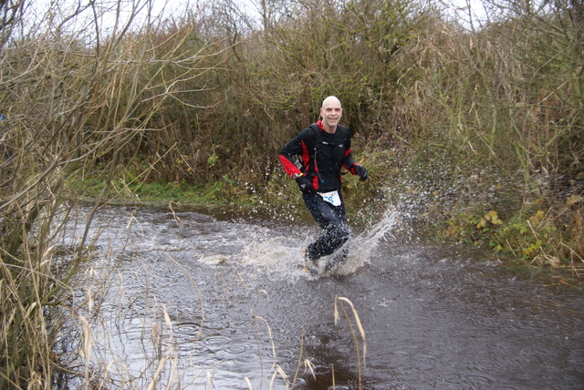
M 85 17 L 99 12 L 95 5 L 59 8 L 61 15 L 51 9 L 38 24 L 22 19 L 21 6 L 0 5 L 3 15 L 14 13 L 4 20 L 0 55 L 0 387 L 50 388 L 53 374 L 68 370 L 52 349 L 68 321 L 63 313 L 76 313 L 59 308 L 90 255 L 89 228 L 104 201 L 92 200 L 78 242 L 63 248 L 59 240 L 85 191 L 71 183 L 100 178 L 102 194 L 111 189 L 112 178 L 137 158 L 128 152 L 132 139 L 160 131 L 149 127 L 153 118 L 185 95 L 196 98 L 205 73 L 220 61 L 216 46 L 196 39 L 188 15 L 179 27 L 153 15 L 136 26 L 120 14 L 106 32 L 99 15 Z M 59 251 L 67 251 L 67 262 L 56 263 Z

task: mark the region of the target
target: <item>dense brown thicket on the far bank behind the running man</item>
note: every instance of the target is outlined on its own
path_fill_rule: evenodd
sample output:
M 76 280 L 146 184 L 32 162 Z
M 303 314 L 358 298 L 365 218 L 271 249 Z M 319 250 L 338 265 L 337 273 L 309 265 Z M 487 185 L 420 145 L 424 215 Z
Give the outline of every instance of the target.
M 471 28 L 428 2 L 262 4 L 261 28 L 230 3 L 200 16 L 224 62 L 190 96 L 204 108 L 168 108 L 151 125 L 184 139 L 157 132 L 138 146 L 167 153 L 157 179 L 286 204 L 277 151 L 337 95 L 376 183 L 360 194 L 370 205 L 389 196 L 456 240 L 581 262 L 581 6 L 488 2 Z

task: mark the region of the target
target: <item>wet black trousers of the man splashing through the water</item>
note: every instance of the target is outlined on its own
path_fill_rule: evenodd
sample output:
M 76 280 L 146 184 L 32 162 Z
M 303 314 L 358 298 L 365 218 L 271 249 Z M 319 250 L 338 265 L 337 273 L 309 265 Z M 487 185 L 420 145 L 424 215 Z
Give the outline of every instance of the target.
M 345 212 L 345 202 L 339 190 L 340 206 L 333 206 L 318 193 L 303 194 L 304 204 L 320 228 L 325 232 L 308 245 L 308 258 L 316 261 L 322 256 L 337 251 L 349 239 L 349 225 Z

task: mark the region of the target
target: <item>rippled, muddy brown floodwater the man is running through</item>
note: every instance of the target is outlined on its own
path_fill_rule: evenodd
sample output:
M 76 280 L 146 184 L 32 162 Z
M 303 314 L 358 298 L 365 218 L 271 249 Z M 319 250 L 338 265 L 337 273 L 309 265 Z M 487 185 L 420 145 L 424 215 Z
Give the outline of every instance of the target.
M 311 279 L 299 266 L 310 221 L 101 210 L 79 292 L 91 297 L 83 362 L 124 389 L 584 387 L 579 288 L 397 239 L 400 223 L 388 212 L 354 231 L 339 274 Z

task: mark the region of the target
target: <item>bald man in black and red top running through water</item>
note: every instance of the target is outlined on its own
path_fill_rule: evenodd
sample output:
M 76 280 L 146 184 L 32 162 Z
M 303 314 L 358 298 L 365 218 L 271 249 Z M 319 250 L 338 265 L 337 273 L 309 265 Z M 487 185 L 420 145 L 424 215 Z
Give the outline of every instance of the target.
M 340 169 L 344 167 L 360 180 L 367 180 L 367 169 L 351 156 L 350 130 L 339 125 L 342 116 L 339 98 L 325 98 L 318 122 L 288 141 L 279 154 L 287 175 L 302 190 L 304 204 L 325 231 L 305 249 L 305 269 L 313 276 L 318 274 L 317 260 L 334 253 L 349 239 Z M 298 165 L 295 155 L 300 159 Z M 346 253 L 340 253 L 341 258 L 344 256 Z

